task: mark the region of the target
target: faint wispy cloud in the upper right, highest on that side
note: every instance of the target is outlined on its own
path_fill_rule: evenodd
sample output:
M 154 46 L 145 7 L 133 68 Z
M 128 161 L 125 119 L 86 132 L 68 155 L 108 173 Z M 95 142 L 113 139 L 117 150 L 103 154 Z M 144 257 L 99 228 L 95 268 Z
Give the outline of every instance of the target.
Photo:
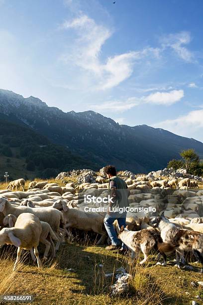
M 163 48 L 170 47 L 176 54 L 187 62 L 194 61 L 194 55 L 189 51 L 185 45 L 191 42 L 191 35 L 189 32 L 179 32 L 176 34 L 169 34 L 161 39 Z

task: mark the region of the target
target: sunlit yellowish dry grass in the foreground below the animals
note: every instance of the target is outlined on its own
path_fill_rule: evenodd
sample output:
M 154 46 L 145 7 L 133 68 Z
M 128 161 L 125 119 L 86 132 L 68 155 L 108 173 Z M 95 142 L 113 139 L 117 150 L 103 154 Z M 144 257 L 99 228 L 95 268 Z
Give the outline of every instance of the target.
M 74 179 L 67 179 L 71 180 Z M 49 179 L 49 182 L 55 180 Z M 0 183 L 0 189 L 5 187 L 5 183 Z M 191 263 L 195 271 L 180 270 L 174 266 L 174 256 L 169 258 L 167 267 L 155 266 L 155 255 L 150 256 L 146 266 L 140 267 L 141 257 L 132 262 L 129 257 L 105 250 L 103 245 L 73 240 L 62 244 L 56 259 L 46 262 L 43 269 L 33 265 L 26 252 L 18 269 L 12 272 L 15 256 L 16 249 L 12 246 L 0 249 L 0 295 L 30 294 L 34 296 L 32 304 L 189 305 L 193 300 L 202 304 L 196 296 L 203 297 L 203 289 L 191 284 L 203 281 L 201 265 Z M 125 296 L 111 298 L 109 287 L 115 283 L 115 277 L 104 275 L 116 274 L 119 267 L 124 267 L 132 275 L 130 290 Z

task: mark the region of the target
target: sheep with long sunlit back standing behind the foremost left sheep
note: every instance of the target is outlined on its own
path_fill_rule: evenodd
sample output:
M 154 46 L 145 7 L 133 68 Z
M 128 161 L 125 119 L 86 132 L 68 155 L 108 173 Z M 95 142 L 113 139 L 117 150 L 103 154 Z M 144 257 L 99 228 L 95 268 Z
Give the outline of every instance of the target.
M 61 230 L 60 224 L 65 224 L 64 216 L 62 212 L 52 207 L 30 208 L 27 206 L 14 206 L 8 200 L 0 198 L 0 212 L 2 212 L 4 216 L 13 214 L 16 217 L 22 213 L 32 213 L 37 216 L 39 220 L 48 222 L 56 235 L 61 238 L 60 232 L 63 230 Z

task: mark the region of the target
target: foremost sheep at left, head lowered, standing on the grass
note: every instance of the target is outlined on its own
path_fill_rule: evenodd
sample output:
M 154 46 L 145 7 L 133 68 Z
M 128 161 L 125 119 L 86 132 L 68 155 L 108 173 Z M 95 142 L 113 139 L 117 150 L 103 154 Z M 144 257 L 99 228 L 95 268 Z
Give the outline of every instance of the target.
M 41 232 L 42 226 L 39 218 L 31 213 L 20 214 L 13 228 L 3 228 L 0 231 L 0 244 L 14 245 L 18 248 L 13 271 L 20 260 L 22 249 L 31 250 L 32 247 L 37 258 L 37 265 L 39 268 L 42 267 L 37 250 Z

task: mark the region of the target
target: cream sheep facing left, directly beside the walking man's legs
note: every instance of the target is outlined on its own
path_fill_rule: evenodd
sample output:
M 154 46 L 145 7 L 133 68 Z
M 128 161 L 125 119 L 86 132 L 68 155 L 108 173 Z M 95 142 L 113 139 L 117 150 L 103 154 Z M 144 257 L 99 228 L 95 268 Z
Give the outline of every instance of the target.
M 63 215 L 66 220 L 64 228 L 76 228 L 84 231 L 94 231 L 101 234 L 97 245 L 105 240 L 106 232 L 103 231 L 103 217 L 96 213 L 80 211 L 63 205 Z

